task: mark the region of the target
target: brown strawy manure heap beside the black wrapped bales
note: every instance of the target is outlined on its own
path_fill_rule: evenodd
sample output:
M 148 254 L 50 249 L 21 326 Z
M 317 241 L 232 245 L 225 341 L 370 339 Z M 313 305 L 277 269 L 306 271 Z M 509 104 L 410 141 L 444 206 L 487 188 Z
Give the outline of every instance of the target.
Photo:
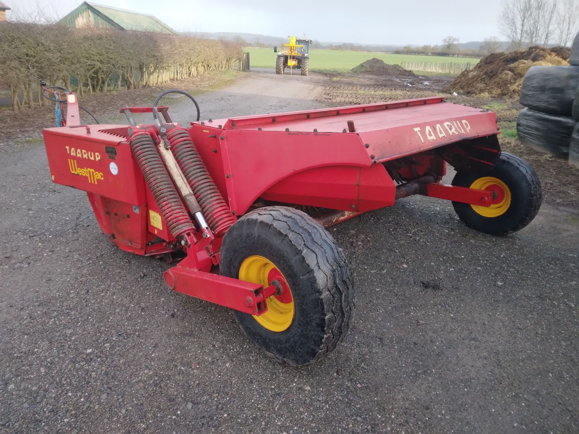
M 523 78 L 536 65 L 569 65 L 565 47 L 530 47 L 526 51 L 493 53 L 470 71 L 462 72 L 446 89 L 467 95 L 518 97 Z

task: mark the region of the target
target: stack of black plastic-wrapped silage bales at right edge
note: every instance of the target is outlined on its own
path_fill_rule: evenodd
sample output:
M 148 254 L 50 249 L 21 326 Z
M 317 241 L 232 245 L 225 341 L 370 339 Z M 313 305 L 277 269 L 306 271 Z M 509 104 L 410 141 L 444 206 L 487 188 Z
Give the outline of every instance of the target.
M 569 66 L 536 66 L 527 71 L 521 89 L 516 129 L 523 145 L 569 157 L 579 168 L 579 34 L 571 46 Z

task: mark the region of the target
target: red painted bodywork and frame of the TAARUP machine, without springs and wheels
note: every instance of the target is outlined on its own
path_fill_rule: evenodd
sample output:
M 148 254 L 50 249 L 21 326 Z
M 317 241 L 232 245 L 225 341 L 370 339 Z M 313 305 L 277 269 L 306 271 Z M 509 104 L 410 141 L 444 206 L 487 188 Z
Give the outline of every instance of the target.
M 129 109 L 152 112 L 151 107 Z M 78 106 L 69 103 L 72 115 L 75 110 Z M 269 289 L 212 273 L 222 238 L 196 233 L 183 246 L 168 233 L 130 150 L 129 126 L 73 124 L 43 132 L 50 172 L 54 182 L 88 193 L 109 240 L 140 255 L 186 253 L 164 273 L 167 285 L 178 292 L 252 315 L 267 310 Z M 419 175 L 430 170 L 439 179 L 445 164 L 434 155 L 436 148 L 497 133 L 494 113 L 449 104 L 442 97 L 233 117 L 193 122 L 189 128 L 234 214 L 245 214 L 258 198 L 338 210 L 325 226 L 394 204 L 396 186 L 382 163 L 419 155 Z M 434 158 L 438 163 L 430 164 Z M 406 170 L 404 177 L 412 174 Z M 487 206 L 492 198 L 490 191 L 439 183 L 427 184 L 421 194 Z

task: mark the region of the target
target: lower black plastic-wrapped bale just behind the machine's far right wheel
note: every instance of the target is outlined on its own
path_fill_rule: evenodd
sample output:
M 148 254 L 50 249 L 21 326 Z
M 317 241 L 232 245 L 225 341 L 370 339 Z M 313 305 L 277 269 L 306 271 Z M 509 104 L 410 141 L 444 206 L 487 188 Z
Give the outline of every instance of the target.
M 523 145 L 538 152 L 564 157 L 569 154 L 575 124 L 572 117 L 523 109 L 516 121 L 516 131 Z

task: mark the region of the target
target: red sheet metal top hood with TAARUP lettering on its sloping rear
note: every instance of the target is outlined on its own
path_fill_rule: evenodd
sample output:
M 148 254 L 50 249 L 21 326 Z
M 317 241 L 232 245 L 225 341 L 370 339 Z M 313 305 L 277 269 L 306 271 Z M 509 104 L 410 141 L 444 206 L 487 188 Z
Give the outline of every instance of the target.
M 348 132 L 348 121 L 354 133 Z M 378 162 L 499 133 L 493 112 L 444 102 L 444 97 L 232 117 L 223 129 L 357 134 Z

